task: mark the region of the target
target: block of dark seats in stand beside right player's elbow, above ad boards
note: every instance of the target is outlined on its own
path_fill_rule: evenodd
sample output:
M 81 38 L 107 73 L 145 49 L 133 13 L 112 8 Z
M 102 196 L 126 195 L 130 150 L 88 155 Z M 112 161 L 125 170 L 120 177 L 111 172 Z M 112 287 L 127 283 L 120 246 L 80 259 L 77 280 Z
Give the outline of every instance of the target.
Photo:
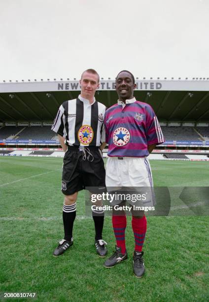
M 194 141 L 201 140 L 200 136 L 193 127 L 162 126 L 161 127 L 165 140 L 174 141 Z

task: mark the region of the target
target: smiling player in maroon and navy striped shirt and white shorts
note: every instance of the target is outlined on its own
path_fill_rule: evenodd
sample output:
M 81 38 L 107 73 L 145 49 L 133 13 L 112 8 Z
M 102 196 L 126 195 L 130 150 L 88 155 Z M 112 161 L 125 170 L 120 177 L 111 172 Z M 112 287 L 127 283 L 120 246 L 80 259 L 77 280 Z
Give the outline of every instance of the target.
M 122 71 L 117 75 L 116 91 L 119 99 L 117 104 L 107 109 L 104 115 L 106 143 L 109 145 L 106 187 L 110 189 L 111 187 L 148 187 L 152 192 L 153 181 L 147 156 L 156 145 L 164 142 L 164 137 L 151 106 L 135 99 L 135 88 L 135 78 L 129 71 Z M 151 199 L 153 203 L 153 195 Z M 132 229 L 135 237 L 133 270 L 138 278 L 145 272 L 142 247 L 146 224 L 144 211 L 132 211 Z M 105 261 L 105 267 L 113 267 L 128 257 L 125 244 L 125 211 L 117 212 L 113 207 L 112 226 L 116 239 L 116 252 Z

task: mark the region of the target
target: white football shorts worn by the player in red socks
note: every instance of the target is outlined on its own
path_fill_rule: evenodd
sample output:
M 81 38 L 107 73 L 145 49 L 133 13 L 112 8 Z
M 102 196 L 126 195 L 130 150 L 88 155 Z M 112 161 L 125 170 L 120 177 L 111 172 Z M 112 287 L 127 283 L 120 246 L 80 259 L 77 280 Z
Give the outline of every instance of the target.
M 139 203 L 143 206 L 154 206 L 155 198 L 149 160 L 147 157 L 122 158 L 108 157 L 107 159 L 105 178 L 107 191 L 145 193 L 146 199 L 140 200 Z M 119 202 L 115 200 L 114 203 Z

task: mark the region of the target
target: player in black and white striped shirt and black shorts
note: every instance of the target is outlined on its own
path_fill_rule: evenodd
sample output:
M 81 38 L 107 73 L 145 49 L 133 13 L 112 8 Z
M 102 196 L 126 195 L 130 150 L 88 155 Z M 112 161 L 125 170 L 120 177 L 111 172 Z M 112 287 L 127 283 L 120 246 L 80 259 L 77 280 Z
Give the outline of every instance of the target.
M 62 255 L 73 244 L 72 228 L 76 216 L 78 191 L 86 187 L 105 188 L 102 149 L 105 143 L 105 106 L 95 100 L 100 77 L 93 69 L 84 71 L 80 79 L 81 93 L 77 99 L 64 102 L 55 117 L 52 130 L 58 133 L 65 151 L 63 160 L 62 192 L 64 238 L 53 255 Z M 95 203 L 100 206 L 102 204 Z M 107 253 L 102 238 L 104 211 L 92 211 L 95 224 L 95 247 L 100 257 Z

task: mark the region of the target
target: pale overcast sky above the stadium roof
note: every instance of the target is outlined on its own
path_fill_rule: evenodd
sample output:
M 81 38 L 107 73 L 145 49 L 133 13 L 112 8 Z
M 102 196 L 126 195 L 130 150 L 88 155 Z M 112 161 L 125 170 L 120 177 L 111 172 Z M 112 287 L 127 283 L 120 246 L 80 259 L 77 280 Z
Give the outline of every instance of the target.
M 209 77 L 209 0 L 0 0 L 0 82 Z

